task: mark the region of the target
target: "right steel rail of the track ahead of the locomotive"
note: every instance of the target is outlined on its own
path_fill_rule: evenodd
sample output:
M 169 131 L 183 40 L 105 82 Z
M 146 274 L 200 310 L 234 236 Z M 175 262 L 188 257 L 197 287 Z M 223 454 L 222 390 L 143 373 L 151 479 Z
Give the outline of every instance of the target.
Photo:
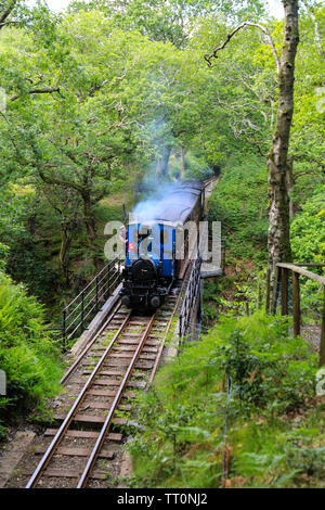
M 113 400 L 113 404 L 112 404 L 112 406 L 110 406 L 110 408 L 109 408 L 109 412 L 108 412 L 108 415 L 107 415 L 107 417 L 106 417 L 106 419 L 105 419 L 105 422 L 104 422 L 104 424 L 103 424 L 103 428 L 102 428 L 102 430 L 101 430 L 101 432 L 100 432 L 100 435 L 99 435 L 99 437 L 98 437 L 98 439 L 96 439 L 96 443 L 95 443 L 95 445 L 94 445 L 94 447 L 93 447 L 93 450 L 92 450 L 92 452 L 91 452 L 91 455 L 90 455 L 90 457 L 89 457 L 89 459 L 88 459 L 87 466 L 86 466 L 86 468 L 84 468 L 84 470 L 83 470 L 83 472 L 82 472 L 82 474 L 81 474 L 81 476 L 80 476 L 80 479 L 79 479 L 79 482 L 78 482 L 78 485 L 77 485 L 76 488 L 83 488 L 83 487 L 86 486 L 86 484 L 87 484 L 87 481 L 88 481 L 88 479 L 89 479 L 90 472 L 91 472 L 91 470 L 92 470 L 92 468 L 93 468 L 93 466 L 94 466 L 94 463 L 95 463 L 95 461 L 96 461 L 96 459 L 98 459 L 98 456 L 99 456 L 99 454 L 100 454 L 100 451 L 101 451 L 101 448 L 102 448 L 102 446 L 103 446 L 103 443 L 104 443 L 104 441 L 105 441 L 105 438 L 106 438 L 106 435 L 107 435 L 107 432 L 108 432 L 108 429 L 109 429 L 109 426 L 110 426 L 110 422 L 112 422 L 112 419 L 113 419 L 113 415 L 114 415 L 114 412 L 116 411 L 117 406 L 119 405 L 119 401 L 120 401 L 120 399 L 121 399 L 122 393 L 123 393 L 123 391 L 125 391 L 125 388 L 126 388 L 126 385 L 127 385 L 127 383 L 128 383 L 128 381 L 129 381 L 129 379 L 130 379 L 130 375 L 131 375 L 131 372 L 132 372 L 132 370 L 133 370 L 133 368 L 134 368 L 134 365 L 136 364 L 138 358 L 139 358 L 139 356 L 140 356 L 140 353 L 141 353 L 141 350 L 142 350 L 142 347 L 143 347 L 143 345 L 144 345 L 144 343 L 145 343 L 145 341 L 146 341 L 146 339 L 147 339 L 147 336 L 148 336 L 148 334 L 150 334 L 150 332 L 151 332 L 151 330 L 152 330 L 152 327 L 153 327 L 153 323 L 154 323 L 154 320 L 155 320 L 156 315 L 157 315 L 157 313 L 155 313 L 155 314 L 152 316 L 152 318 L 151 318 L 151 320 L 150 320 L 150 322 L 148 322 L 148 324 L 147 324 L 147 327 L 146 327 L 146 329 L 145 329 L 145 331 L 144 331 L 144 333 L 143 333 L 143 335 L 142 335 L 142 339 L 141 339 L 141 341 L 139 342 L 139 345 L 138 345 L 138 347 L 136 347 L 136 350 L 135 350 L 135 353 L 134 353 L 134 355 L 133 355 L 133 357 L 132 357 L 132 359 L 131 359 L 131 361 L 130 361 L 130 365 L 129 365 L 129 367 L 128 367 L 128 369 L 127 369 L 127 372 L 126 372 L 126 374 L 125 374 L 125 377 L 123 377 L 123 380 L 122 380 L 122 382 L 121 382 L 121 384 L 120 384 L 120 386 L 119 386 L 119 388 L 118 388 L 118 391 L 117 391 L 117 394 L 116 394 L 116 396 L 115 396 L 115 398 L 114 398 L 114 400 Z

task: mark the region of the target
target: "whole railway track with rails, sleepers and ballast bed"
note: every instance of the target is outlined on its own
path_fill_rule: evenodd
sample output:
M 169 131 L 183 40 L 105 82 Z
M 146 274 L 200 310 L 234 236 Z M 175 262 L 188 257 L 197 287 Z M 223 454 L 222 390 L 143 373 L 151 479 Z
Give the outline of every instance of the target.
M 206 190 L 214 181 L 218 178 L 209 179 Z M 23 463 L 20 486 L 114 485 L 122 456 L 122 426 L 130 423 L 134 390 L 148 388 L 154 380 L 191 265 L 188 259 L 181 286 L 173 289 L 155 314 L 134 315 L 120 303 L 115 306 L 62 378 L 65 395 L 60 396 L 60 410 L 54 413 L 56 428 L 44 431 L 42 444 Z

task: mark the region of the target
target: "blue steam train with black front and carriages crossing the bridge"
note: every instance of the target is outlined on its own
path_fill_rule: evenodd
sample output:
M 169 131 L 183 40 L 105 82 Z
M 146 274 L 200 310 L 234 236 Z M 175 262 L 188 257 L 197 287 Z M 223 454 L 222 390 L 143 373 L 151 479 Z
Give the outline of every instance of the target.
M 161 196 L 161 193 L 160 193 Z M 128 308 L 155 309 L 169 294 L 176 280 L 183 278 L 188 263 L 187 221 L 198 225 L 203 217 L 205 184 L 178 181 L 164 190 L 164 196 L 141 202 L 134 209 L 126 240 L 126 267 L 119 294 Z M 183 229 L 182 258 L 176 240 Z

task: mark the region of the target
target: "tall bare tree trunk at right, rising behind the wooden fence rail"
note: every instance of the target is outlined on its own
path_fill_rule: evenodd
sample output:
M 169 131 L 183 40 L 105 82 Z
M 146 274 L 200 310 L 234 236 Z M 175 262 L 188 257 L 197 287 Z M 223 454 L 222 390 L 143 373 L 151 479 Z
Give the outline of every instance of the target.
M 275 265 L 291 260 L 287 164 L 294 113 L 295 58 L 299 42 L 298 0 L 283 0 L 284 42 L 278 69 L 278 110 L 273 143 L 268 154 L 269 168 L 269 267 L 274 289 Z

